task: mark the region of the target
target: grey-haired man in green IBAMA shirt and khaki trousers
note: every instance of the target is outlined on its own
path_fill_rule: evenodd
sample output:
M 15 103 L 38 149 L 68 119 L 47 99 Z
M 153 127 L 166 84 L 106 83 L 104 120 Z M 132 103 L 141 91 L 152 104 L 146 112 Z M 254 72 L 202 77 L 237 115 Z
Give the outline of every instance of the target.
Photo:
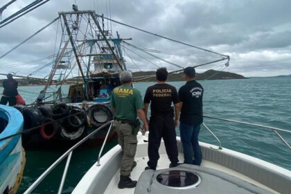
M 138 89 L 132 87 L 132 73 L 120 73 L 121 86 L 114 88 L 111 98 L 112 112 L 114 113 L 114 127 L 118 134 L 118 144 L 123 150 L 121 160 L 121 179 L 118 188 L 133 188 L 136 181 L 130 179 L 130 172 L 136 166 L 134 155 L 136 152 L 136 134 L 140 123 L 137 116 L 143 121 L 143 129 L 148 130 L 148 123 L 143 112 L 143 100 Z

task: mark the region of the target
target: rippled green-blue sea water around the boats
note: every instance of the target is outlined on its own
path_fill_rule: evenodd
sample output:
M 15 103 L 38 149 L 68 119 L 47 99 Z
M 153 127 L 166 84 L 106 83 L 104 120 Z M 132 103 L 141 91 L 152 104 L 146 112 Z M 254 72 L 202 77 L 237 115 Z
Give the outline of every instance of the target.
M 204 115 L 245 121 L 291 130 L 291 77 L 249 78 L 244 80 L 204 80 L 199 81 L 204 87 Z M 184 82 L 169 82 L 177 89 Z M 153 82 L 141 82 L 134 87 L 144 95 L 145 89 Z M 19 93 L 32 103 L 42 86 L 19 87 Z M 64 86 L 64 95 L 68 86 Z M 2 88 L 0 88 L 1 92 Z M 53 91 L 53 90 L 52 90 Z M 222 147 L 258 157 L 272 164 L 291 170 L 290 149 L 270 130 L 227 121 L 204 118 L 204 123 L 220 139 Z M 177 130 L 179 135 L 179 130 Z M 291 144 L 291 134 L 280 132 Z M 212 143 L 217 141 L 204 127 L 200 132 L 200 141 Z M 116 145 L 108 143 L 105 152 Z M 82 148 L 73 152 L 69 173 L 64 184 L 64 193 L 71 193 L 82 175 L 97 160 L 100 148 Z M 65 150 L 30 151 L 26 150 L 26 167 L 18 193 L 23 193 L 48 166 L 62 155 Z M 63 161 L 51 175 L 44 179 L 34 193 L 57 193 L 62 172 Z

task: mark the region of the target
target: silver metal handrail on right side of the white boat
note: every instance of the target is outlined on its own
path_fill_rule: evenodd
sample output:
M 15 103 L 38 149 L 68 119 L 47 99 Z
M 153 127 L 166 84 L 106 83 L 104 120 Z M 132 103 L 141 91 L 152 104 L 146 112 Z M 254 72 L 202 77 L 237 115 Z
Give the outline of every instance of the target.
M 287 141 L 285 141 L 283 136 L 281 136 L 281 134 L 279 134 L 279 132 L 278 132 L 278 131 L 280 131 L 280 132 L 291 133 L 290 130 L 283 130 L 283 129 L 280 129 L 278 127 L 269 127 L 269 126 L 266 126 L 266 125 L 258 125 L 258 124 L 254 124 L 254 123 L 247 123 L 247 122 L 243 122 L 243 121 L 235 121 L 235 120 L 231 120 L 231 119 L 227 119 L 227 118 L 218 118 L 218 117 L 214 117 L 214 116 L 204 116 L 204 117 L 205 118 L 213 118 L 213 119 L 217 119 L 217 120 L 220 120 L 220 121 L 229 121 L 229 122 L 232 122 L 232 123 L 240 123 L 240 124 L 252 125 L 252 126 L 256 126 L 256 127 L 263 127 L 263 130 L 271 130 L 277 136 L 279 136 L 279 139 L 281 139 L 281 141 L 283 141 L 283 143 L 285 143 L 285 145 L 287 145 L 288 148 L 291 150 L 291 146 L 289 145 L 289 143 Z

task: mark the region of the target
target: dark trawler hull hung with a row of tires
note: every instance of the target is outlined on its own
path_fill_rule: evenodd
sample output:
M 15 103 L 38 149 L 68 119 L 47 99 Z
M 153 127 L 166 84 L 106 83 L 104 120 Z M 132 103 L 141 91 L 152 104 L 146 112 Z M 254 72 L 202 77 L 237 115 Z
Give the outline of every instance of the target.
M 84 107 L 85 106 L 85 107 Z M 112 112 L 100 103 L 67 103 L 18 106 L 24 115 L 23 146 L 27 150 L 62 150 L 71 148 L 96 128 L 112 120 Z M 98 131 L 82 146 L 102 145 L 108 127 Z M 109 132 L 108 140 L 116 139 L 115 130 Z

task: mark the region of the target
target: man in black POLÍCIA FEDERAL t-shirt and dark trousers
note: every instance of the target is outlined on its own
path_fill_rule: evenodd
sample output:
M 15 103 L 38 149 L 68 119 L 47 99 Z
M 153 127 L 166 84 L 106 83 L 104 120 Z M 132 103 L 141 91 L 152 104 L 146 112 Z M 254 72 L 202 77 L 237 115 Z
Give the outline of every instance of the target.
M 156 170 L 159 160 L 159 145 L 163 137 L 166 152 L 170 159 L 170 166 L 178 164 L 178 149 L 175 127 L 179 120 L 179 97 L 175 87 L 166 84 L 168 71 L 159 68 L 156 72 L 157 84 L 148 87 L 145 92 L 145 116 L 150 103 L 150 125 L 148 135 L 148 167 L 145 169 Z M 175 105 L 175 119 L 172 103 Z

